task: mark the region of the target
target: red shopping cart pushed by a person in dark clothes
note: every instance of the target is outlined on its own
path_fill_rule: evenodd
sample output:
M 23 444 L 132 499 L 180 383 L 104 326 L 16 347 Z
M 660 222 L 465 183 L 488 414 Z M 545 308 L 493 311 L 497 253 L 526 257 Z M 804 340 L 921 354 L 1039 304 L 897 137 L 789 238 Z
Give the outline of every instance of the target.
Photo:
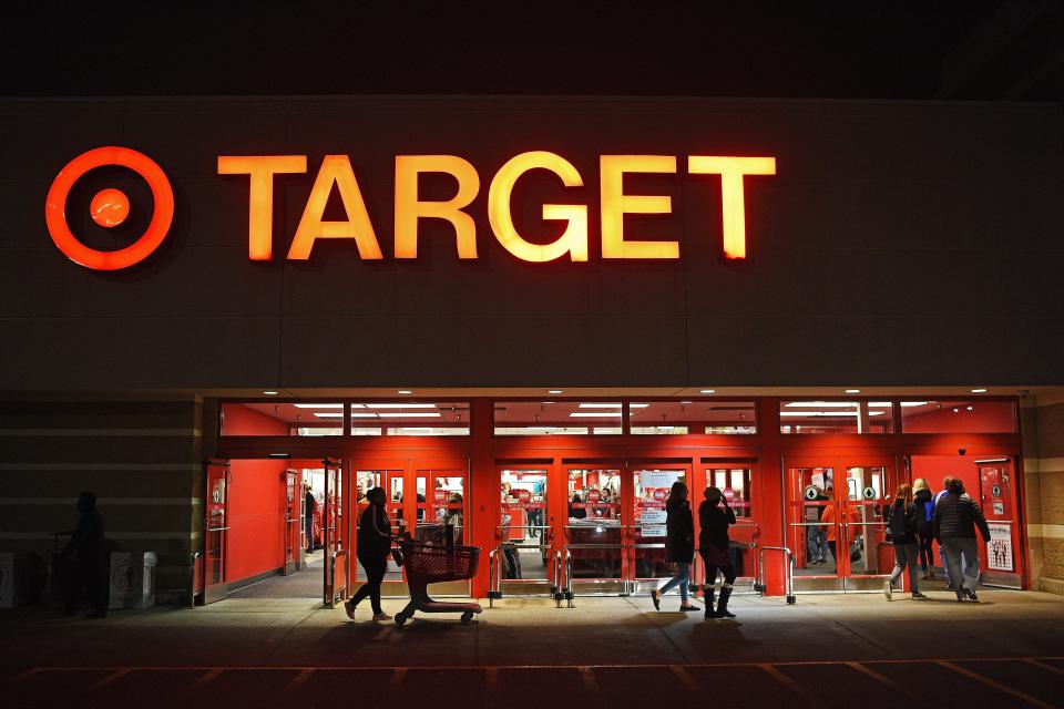
M 415 542 L 409 536 L 399 540 L 402 549 L 403 566 L 407 569 L 407 585 L 410 588 L 410 603 L 396 614 L 396 624 L 402 625 L 413 617 L 415 610 L 421 613 L 461 613 L 462 625 L 473 619 L 474 613 L 483 608 L 477 603 L 443 603 L 432 600 L 427 587 L 447 580 L 472 578 L 480 562 L 480 548 L 475 546 L 456 546 Z

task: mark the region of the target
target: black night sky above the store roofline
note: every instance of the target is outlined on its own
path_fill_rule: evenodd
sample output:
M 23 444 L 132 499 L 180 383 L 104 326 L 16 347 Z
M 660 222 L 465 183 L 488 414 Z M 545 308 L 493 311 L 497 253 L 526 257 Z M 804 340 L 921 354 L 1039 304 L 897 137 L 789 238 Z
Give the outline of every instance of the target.
M 68 4 L 4 6 L 3 95 L 922 99 L 1001 2 Z

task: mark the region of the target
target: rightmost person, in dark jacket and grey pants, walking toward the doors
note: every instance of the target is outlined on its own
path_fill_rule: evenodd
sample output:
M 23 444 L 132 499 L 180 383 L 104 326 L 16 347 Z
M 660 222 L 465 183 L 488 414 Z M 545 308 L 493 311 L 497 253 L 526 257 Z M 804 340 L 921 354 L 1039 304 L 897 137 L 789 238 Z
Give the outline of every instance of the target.
M 945 551 L 945 564 L 958 600 L 979 600 L 979 546 L 975 527 L 990 542 L 990 527 L 975 501 L 964 494 L 964 483 L 951 480 L 947 494 L 934 506 L 934 538 Z

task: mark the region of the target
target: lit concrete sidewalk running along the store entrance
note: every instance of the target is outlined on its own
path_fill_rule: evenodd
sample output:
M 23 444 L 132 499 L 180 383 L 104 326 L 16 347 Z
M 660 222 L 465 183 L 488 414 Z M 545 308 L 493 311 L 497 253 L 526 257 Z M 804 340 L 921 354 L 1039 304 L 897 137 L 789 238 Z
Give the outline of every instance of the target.
M 305 599 L 228 599 L 196 609 L 65 619 L 0 613 L 0 665 L 32 667 L 522 667 L 1030 658 L 1064 656 L 1064 598 L 983 590 L 888 603 L 881 595 L 733 599 L 735 620 L 654 612 L 649 598 L 503 599 L 474 625 L 458 616 L 376 624 L 368 607 Z M 368 605 L 368 604 L 367 604 Z M 386 600 L 395 614 L 400 600 Z

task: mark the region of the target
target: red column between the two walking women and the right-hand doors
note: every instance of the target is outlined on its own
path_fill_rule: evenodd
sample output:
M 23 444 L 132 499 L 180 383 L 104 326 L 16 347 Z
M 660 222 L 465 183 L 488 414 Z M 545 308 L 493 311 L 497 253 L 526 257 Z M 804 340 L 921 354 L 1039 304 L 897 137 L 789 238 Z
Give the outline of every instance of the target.
M 784 518 L 784 470 L 779 433 L 779 399 L 765 397 L 757 402 L 757 428 L 761 439 L 759 461 L 761 491 L 761 546 L 786 546 Z M 780 552 L 765 554 L 766 593 L 779 596 L 784 590 L 786 557 Z

